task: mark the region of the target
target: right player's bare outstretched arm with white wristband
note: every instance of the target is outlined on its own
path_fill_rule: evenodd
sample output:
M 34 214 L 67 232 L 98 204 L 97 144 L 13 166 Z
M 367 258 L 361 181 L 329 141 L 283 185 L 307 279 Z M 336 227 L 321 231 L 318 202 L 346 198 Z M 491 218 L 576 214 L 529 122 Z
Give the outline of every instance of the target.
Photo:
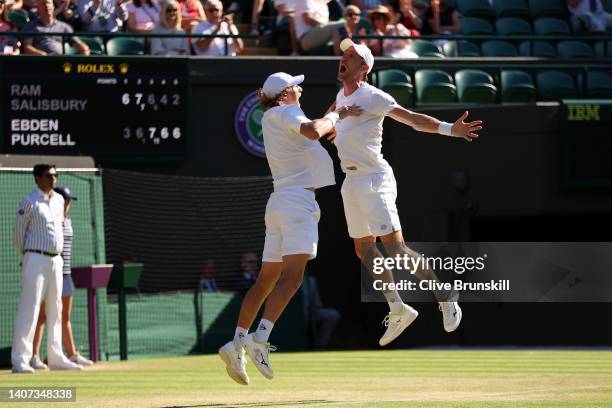
M 432 116 L 412 112 L 406 108 L 398 106 L 397 108 L 391 110 L 387 116 L 397 120 L 400 123 L 411 126 L 419 132 L 439 133 L 451 137 L 460 137 L 471 142 L 472 140 L 478 138 L 478 134 L 476 132 L 482 129 L 482 121 L 475 120 L 473 122 L 465 122 L 468 114 L 469 112 L 465 111 L 465 113 L 459 119 L 457 119 L 455 123 L 446 123 L 441 122 Z

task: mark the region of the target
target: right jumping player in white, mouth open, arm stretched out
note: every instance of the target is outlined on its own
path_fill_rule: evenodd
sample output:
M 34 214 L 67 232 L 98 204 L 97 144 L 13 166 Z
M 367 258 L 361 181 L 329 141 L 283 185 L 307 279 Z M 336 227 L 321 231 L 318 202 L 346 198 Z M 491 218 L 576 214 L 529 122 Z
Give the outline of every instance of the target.
M 366 82 L 374 66 L 374 57 L 367 46 L 345 39 L 340 49 L 343 55 L 338 79 L 343 88 L 330 111 L 357 105 L 363 109 L 363 114 L 340 120 L 335 126 L 335 135 L 330 139 L 338 149 L 342 170 L 346 173 L 341 191 L 349 235 L 354 240 L 357 256 L 371 272 L 373 258 L 382 256 L 375 247 L 377 237 L 380 237 L 391 257 L 403 257 L 404 254 L 419 257 L 404 244 L 395 206 L 395 177 L 381 153 L 385 117 L 389 116 L 421 132 L 439 133 L 469 142 L 478 137 L 475 132 L 482 129 L 482 121 L 464 122 L 468 116 L 466 111 L 455 123 L 445 123 L 401 107 L 391 95 Z M 393 282 L 391 271 L 385 271 L 381 277 L 383 282 Z M 422 268 L 416 271 L 416 277 L 436 279 L 433 271 Z M 395 340 L 418 316 L 416 310 L 403 303 L 397 290 L 387 290 L 383 294 L 389 303 L 390 313 L 383 321 L 387 329 L 380 339 L 381 346 Z M 435 291 L 434 295 L 443 314 L 444 329 L 454 331 L 461 322 L 461 308 L 447 292 Z

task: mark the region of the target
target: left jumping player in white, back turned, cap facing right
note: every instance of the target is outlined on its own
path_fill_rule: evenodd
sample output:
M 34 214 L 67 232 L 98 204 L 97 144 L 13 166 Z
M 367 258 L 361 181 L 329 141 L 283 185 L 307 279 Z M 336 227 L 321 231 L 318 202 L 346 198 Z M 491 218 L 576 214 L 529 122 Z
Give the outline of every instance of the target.
M 259 91 L 267 109 L 261 124 L 274 192 L 266 206 L 266 239 L 261 271 L 240 309 L 234 340 L 219 349 L 227 373 L 247 385 L 245 352 L 266 378 L 272 379 L 268 342 L 274 323 L 299 289 L 306 263 L 317 254 L 320 210 L 317 188 L 336 184 L 332 160 L 319 143 L 340 118 L 361 113 L 357 106 L 342 107 L 321 119 L 310 120 L 300 108 L 304 75 L 270 75 Z M 257 331 L 248 334 L 264 300 Z

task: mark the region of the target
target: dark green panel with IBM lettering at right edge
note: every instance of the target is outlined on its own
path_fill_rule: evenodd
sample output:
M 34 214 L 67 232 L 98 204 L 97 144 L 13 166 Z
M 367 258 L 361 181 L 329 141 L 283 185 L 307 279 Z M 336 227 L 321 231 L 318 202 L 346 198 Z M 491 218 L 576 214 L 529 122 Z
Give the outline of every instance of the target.
M 566 187 L 612 187 L 612 100 L 562 102 L 561 172 Z

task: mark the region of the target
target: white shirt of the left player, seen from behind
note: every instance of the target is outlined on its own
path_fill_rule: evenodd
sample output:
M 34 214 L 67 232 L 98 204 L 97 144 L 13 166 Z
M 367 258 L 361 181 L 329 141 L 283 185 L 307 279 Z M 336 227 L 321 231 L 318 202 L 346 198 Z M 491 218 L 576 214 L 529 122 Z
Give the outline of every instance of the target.
M 327 151 L 318 141 L 300 134 L 300 126 L 307 122 L 310 119 L 294 104 L 276 106 L 264 113 L 261 125 L 274 190 L 336 184 Z

